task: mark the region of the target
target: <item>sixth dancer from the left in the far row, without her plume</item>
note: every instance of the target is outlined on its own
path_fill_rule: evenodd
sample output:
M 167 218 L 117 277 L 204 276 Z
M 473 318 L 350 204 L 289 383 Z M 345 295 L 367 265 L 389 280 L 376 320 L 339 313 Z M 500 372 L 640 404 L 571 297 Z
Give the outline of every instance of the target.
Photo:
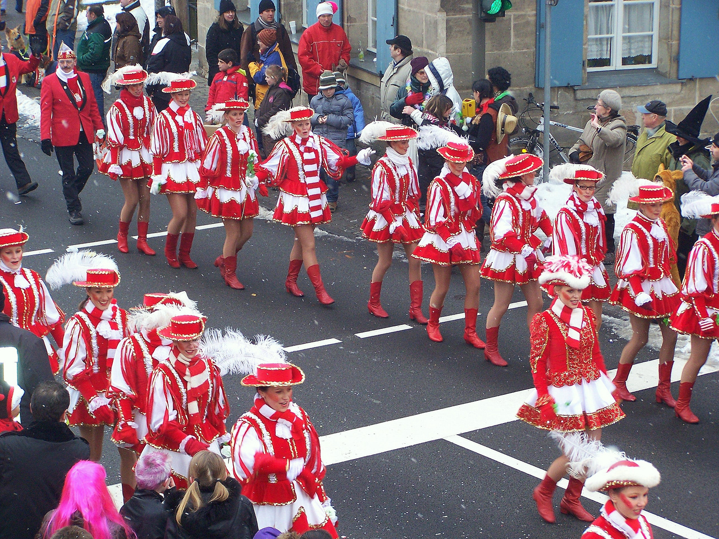
M 447 142 L 437 149 L 444 166 L 427 190 L 425 233 L 412 257 L 432 263 L 434 291 L 429 298 L 427 335 L 432 341 L 444 339 L 439 333 L 439 316 L 449 292 L 452 266 L 459 266 L 464 280 L 464 342 L 482 349 L 477 336 L 477 309 L 480 306 L 480 244 L 475 222 L 482 216 L 480 184 L 467 172 L 475 152 L 464 142 Z

